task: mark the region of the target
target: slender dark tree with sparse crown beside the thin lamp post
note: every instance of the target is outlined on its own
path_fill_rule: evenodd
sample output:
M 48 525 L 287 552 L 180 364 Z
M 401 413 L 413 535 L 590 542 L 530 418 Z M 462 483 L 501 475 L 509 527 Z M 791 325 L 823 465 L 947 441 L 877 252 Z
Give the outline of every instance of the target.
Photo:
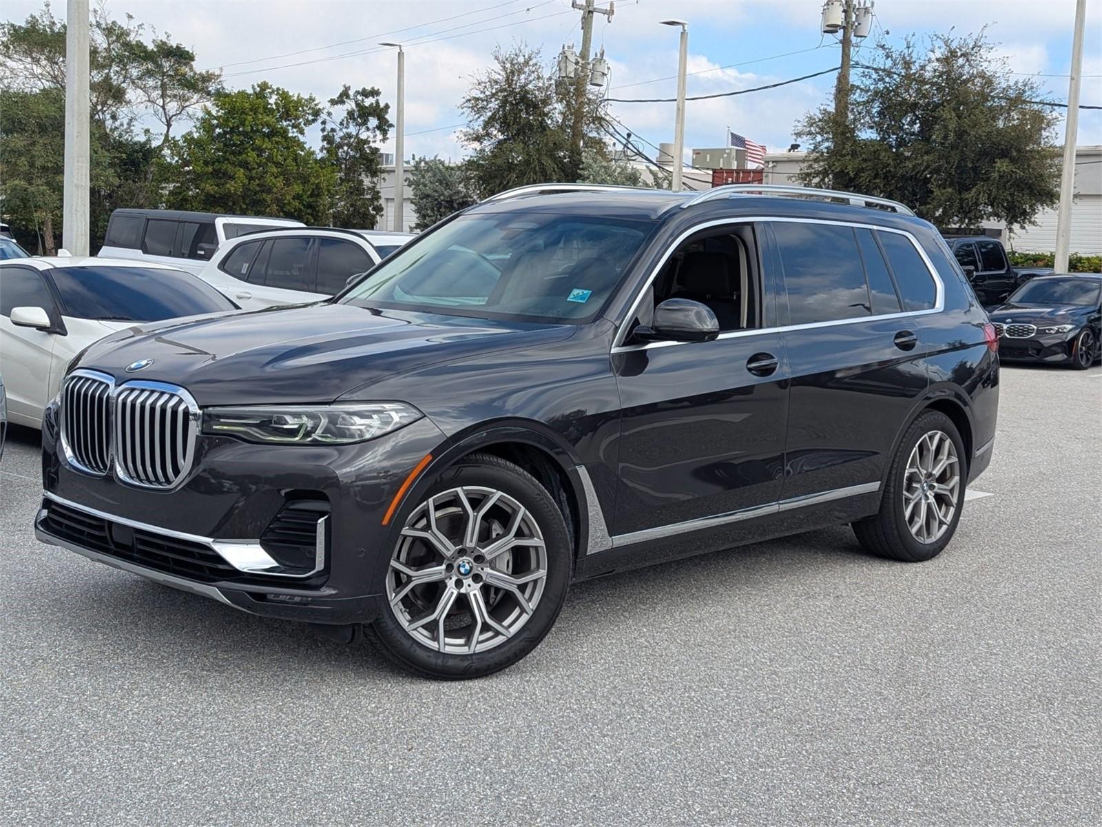
M 375 87 L 352 90 L 347 84 L 329 99 L 338 115 L 322 117 L 322 153 L 336 173 L 332 223 L 339 227 L 374 227 L 382 215 L 379 175 L 382 157 L 376 146 L 393 126 L 387 119 L 389 104 L 379 100 Z

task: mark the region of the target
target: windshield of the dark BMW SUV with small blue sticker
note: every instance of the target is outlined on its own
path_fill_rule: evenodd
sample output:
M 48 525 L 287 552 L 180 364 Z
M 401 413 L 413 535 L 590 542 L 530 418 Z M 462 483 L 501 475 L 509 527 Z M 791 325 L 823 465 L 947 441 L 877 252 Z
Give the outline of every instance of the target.
M 588 321 L 651 226 L 547 213 L 460 216 L 385 259 L 341 301 L 476 318 Z

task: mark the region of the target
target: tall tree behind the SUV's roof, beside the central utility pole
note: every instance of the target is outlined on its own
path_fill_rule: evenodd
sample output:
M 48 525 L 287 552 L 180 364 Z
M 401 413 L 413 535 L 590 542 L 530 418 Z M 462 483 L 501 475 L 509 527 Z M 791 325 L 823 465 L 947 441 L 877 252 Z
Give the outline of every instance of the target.
M 584 146 L 603 151 L 605 119 L 588 92 Z M 570 158 L 570 90 L 558 87 L 538 50 L 519 44 L 494 51 L 494 65 L 476 75 L 460 108 L 467 127 L 461 140 L 483 196 L 512 186 L 574 181 Z

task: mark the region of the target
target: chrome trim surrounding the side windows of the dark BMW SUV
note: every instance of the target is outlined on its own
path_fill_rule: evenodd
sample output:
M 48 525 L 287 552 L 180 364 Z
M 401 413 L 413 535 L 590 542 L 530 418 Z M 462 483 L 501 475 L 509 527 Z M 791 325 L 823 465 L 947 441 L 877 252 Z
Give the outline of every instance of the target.
M 677 347 L 680 345 L 696 344 L 694 342 L 649 342 L 647 344 L 626 345 L 624 344 L 624 340 L 627 337 L 627 325 L 635 316 L 636 311 L 638 311 L 639 303 L 647 294 L 647 290 L 650 288 L 651 283 L 653 283 L 655 279 L 658 277 L 658 273 L 661 271 L 662 267 L 666 266 L 666 262 L 669 260 L 670 256 L 673 255 L 677 248 L 680 247 L 681 244 L 684 243 L 687 238 L 696 233 L 700 233 L 703 229 L 709 229 L 711 227 L 730 226 L 734 224 L 755 224 L 765 222 L 788 223 L 788 224 L 830 224 L 842 227 L 856 227 L 856 228 L 879 230 L 882 233 L 896 233 L 898 235 L 904 236 L 911 243 L 911 245 L 918 251 L 919 257 L 926 265 L 926 269 L 930 273 L 930 278 L 933 279 L 933 286 L 934 286 L 933 307 L 928 308 L 926 310 L 904 310 L 899 313 L 866 315 L 866 316 L 858 316 L 855 319 L 839 319 L 830 322 L 808 322 L 806 324 L 786 324 L 775 327 L 756 327 L 754 330 L 731 331 L 728 333 L 721 333 L 719 336 L 716 336 L 716 341 L 724 339 L 741 339 L 744 336 L 758 336 L 766 333 L 786 333 L 788 331 L 810 330 L 813 327 L 833 327 L 842 324 L 857 324 L 858 322 L 875 322 L 882 319 L 905 319 L 916 315 L 928 315 L 930 313 L 940 313 L 942 310 L 944 310 L 946 286 L 944 282 L 941 280 L 941 277 L 938 275 L 938 268 L 933 266 L 933 262 L 930 260 L 930 257 L 926 255 L 926 250 L 922 249 L 922 246 L 918 243 L 918 239 L 916 239 L 915 236 L 911 235 L 911 233 L 909 233 L 906 229 L 885 227 L 879 224 L 863 224 L 852 221 L 833 221 L 830 218 L 793 218 L 786 216 L 768 216 L 768 215 L 739 216 L 736 218 L 713 218 L 712 221 L 694 224 L 692 227 L 684 230 L 681 235 L 674 238 L 673 241 L 666 248 L 666 251 L 662 254 L 662 257 L 658 260 L 653 269 L 650 271 L 650 275 L 647 277 L 647 280 L 639 286 L 639 290 L 636 293 L 635 300 L 628 307 L 628 311 L 625 314 L 624 319 L 622 320 L 618 330 L 616 331 L 616 336 L 613 339 L 613 346 L 611 352 L 630 353 L 633 351 L 649 351 L 656 347 Z

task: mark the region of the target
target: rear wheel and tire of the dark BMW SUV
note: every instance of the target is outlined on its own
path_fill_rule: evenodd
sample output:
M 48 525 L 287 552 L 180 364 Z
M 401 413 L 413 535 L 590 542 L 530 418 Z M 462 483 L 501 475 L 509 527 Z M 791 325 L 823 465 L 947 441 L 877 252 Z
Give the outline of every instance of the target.
M 929 461 L 923 463 L 923 457 Z M 929 474 L 943 457 L 951 459 L 931 481 Z M 953 466 L 955 482 L 950 485 Z M 910 423 L 892 460 L 879 512 L 854 523 L 853 531 L 861 545 L 878 557 L 905 562 L 930 560 L 957 531 L 966 484 L 964 443 L 957 426 L 944 414 L 925 411 Z M 951 514 L 947 513 L 950 505 Z

